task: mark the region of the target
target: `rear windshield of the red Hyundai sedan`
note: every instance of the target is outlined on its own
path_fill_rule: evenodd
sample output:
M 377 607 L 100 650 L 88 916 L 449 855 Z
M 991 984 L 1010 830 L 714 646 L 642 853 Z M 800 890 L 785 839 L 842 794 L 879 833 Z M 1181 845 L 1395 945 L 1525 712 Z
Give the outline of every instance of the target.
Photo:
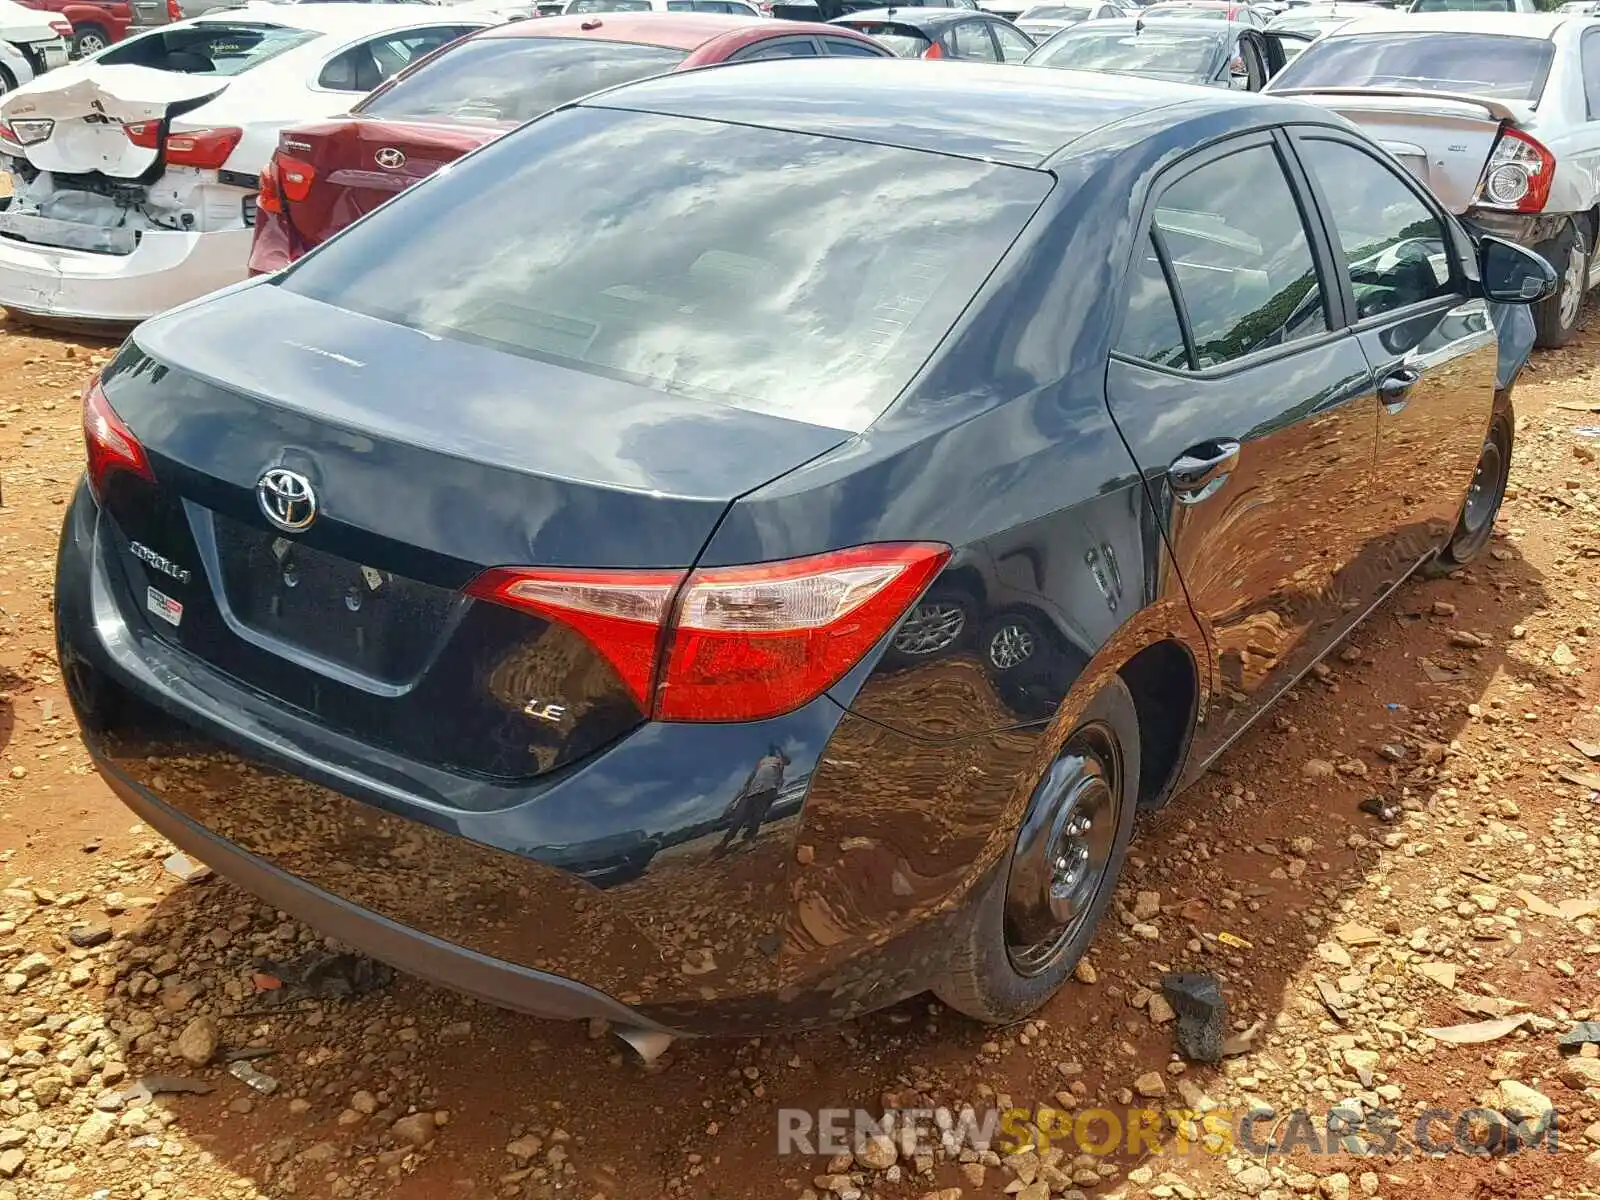
M 395 120 L 533 120 L 590 91 L 672 70 L 686 50 L 568 37 L 478 37 L 355 106 Z

